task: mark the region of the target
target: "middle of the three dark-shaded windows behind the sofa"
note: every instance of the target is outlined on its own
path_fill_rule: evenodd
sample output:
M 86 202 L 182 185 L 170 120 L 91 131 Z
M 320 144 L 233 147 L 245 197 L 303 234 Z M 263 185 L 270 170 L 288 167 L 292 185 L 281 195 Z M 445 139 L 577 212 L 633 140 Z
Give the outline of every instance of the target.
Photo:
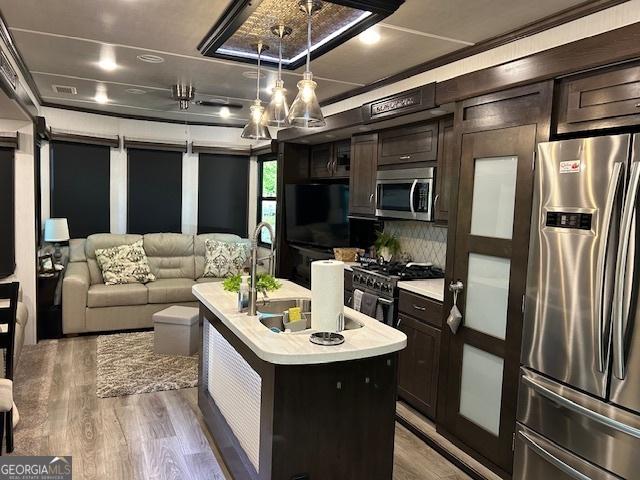
M 129 148 L 129 233 L 182 232 L 182 153 Z

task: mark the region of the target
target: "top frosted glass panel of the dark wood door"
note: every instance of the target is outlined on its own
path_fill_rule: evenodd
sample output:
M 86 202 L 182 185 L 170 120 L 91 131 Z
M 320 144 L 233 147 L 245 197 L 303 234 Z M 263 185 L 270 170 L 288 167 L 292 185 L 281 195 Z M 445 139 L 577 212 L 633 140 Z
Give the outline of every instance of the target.
M 477 158 L 471 235 L 511 238 L 518 157 Z

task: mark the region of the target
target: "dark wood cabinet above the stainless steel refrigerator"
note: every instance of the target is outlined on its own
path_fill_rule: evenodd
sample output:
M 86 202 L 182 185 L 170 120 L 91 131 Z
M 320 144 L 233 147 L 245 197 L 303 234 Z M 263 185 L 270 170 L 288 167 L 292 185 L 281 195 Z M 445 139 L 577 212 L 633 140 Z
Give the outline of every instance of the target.
M 638 64 L 567 77 L 558 92 L 558 133 L 640 124 Z

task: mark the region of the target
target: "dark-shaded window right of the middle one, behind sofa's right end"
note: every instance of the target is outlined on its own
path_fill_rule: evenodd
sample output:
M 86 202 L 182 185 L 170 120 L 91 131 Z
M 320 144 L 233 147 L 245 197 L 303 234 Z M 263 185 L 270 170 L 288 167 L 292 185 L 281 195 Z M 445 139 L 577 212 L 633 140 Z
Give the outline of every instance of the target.
M 247 236 L 249 157 L 200 153 L 198 233 Z

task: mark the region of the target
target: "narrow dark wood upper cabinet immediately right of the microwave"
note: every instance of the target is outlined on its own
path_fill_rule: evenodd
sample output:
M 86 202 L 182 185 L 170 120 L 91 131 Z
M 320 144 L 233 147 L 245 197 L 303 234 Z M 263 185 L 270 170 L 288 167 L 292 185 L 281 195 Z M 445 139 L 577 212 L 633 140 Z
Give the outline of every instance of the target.
M 438 167 L 433 199 L 434 220 L 438 223 L 449 221 L 449 203 L 453 189 L 452 172 L 455 170 L 454 142 L 453 118 L 441 120 L 438 127 Z

